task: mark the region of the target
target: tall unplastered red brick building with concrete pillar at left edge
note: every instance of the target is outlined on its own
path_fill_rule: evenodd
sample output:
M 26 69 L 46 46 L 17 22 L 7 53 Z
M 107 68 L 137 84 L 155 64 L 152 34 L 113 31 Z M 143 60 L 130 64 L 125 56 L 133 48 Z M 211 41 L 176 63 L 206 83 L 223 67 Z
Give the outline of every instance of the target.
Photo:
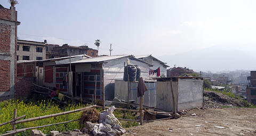
M 17 11 L 0 5 L 0 100 L 14 96 L 17 53 Z

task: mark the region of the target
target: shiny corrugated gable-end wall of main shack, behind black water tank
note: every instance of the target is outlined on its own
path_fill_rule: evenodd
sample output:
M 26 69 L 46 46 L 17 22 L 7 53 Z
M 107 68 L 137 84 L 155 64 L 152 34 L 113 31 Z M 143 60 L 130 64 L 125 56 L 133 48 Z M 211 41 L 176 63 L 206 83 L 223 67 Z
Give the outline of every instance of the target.
M 104 70 L 104 85 L 105 85 L 105 99 L 113 100 L 115 97 L 115 80 L 123 80 L 124 76 L 124 63 L 126 65 L 126 58 L 119 58 L 104 61 L 103 70 Z M 141 77 L 149 77 L 149 65 L 138 60 L 133 60 L 130 58 L 131 65 L 137 65 L 141 68 Z

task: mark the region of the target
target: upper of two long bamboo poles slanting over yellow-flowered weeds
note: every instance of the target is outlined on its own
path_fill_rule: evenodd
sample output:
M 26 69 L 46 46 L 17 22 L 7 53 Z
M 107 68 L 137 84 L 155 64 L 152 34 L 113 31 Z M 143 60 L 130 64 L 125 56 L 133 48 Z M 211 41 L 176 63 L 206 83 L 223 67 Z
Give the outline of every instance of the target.
M 77 111 L 81 111 L 81 110 L 85 110 L 88 108 L 92 108 L 93 106 L 89 106 L 89 107 L 84 107 L 84 108 L 80 108 L 80 109 L 75 109 L 75 110 L 70 110 L 70 111 L 65 111 L 63 113 L 58 113 L 58 114 L 52 114 L 52 115 L 45 115 L 45 116 L 40 116 L 40 117 L 34 117 L 34 118 L 28 118 L 28 119 L 22 119 L 20 121 L 15 121 L 11 124 L 20 124 L 20 123 L 25 123 L 25 122 L 31 122 L 31 121 L 36 121 L 38 119 L 44 119 L 44 118 L 49 118 L 49 117 L 55 117 L 55 116 L 60 116 L 60 115 L 65 115 L 65 114 L 70 114 L 70 113 L 75 113 Z

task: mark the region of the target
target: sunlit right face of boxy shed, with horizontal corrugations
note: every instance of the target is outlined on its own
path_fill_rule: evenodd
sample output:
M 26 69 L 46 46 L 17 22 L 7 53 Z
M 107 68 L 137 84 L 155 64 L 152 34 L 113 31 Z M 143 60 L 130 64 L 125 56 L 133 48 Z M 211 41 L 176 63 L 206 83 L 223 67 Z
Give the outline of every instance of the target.
M 203 106 L 203 80 L 179 79 L 178 110 Z

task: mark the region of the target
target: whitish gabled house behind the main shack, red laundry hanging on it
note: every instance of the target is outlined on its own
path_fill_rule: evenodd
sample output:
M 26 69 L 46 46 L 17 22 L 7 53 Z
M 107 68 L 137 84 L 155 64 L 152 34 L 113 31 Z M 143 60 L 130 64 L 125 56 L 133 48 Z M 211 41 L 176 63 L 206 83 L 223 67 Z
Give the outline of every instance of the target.
M 150 75 L 149 77 L 166 77 L 166 69 L 167 67 L 170 67 L 168 65 L 166 65 L 165 62 L 158 60 L 157 58 L 153 57 L 152 55 L 139 55 L 139 56 L 135 56 L 135 58 L 137 59 L 141 59 L 147 63 L 149 63 L 150 65 L 153 65 L 152 67 L 150 67 L 150 71 L 157 71 L 157 69 L 159 68 L 159 74 L 151 74 L 150 71 Z M 158 76 L 157 76 L 158 75 Z

